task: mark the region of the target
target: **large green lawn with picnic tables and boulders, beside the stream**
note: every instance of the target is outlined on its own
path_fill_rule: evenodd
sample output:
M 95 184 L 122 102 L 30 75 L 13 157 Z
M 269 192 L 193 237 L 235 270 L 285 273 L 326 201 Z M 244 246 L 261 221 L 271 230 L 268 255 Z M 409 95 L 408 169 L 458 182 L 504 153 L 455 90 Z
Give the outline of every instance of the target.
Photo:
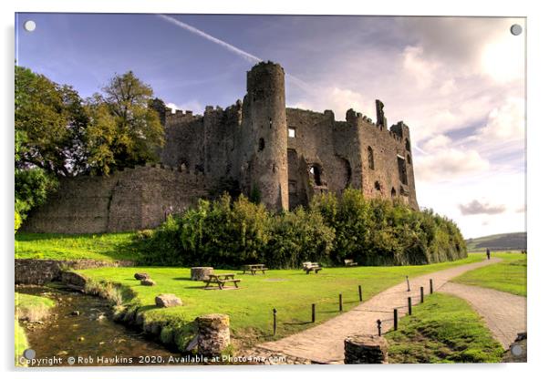
M 267 274 L 237 275 L 242 289 L 236 291 L 205 291 L 202 282 L 192 282 L 188 268 L 133 267 L 100 268 L 80 271 L 96 281 L 118 282 L 136 293 L 136 299 L 147 320 L 184 319 L 221 312 L 229 314 L 233 336 L 245 343 L 273 340 L 273 308 L 277 310 L 276 338 L 313 326 L 311 304 L 316 303 L 316 322 L 336 316 L 338 294 L 343 294 L 344 310 L 358 304 L 357 286 L 362 285 L 364 300 L 405 280 L 405 275 L 418 276 L 464 263 L 482 261 L 481 255 L 471 255 L 461 261 L 424 266 L 325 268 L 318 274 L 306 275 L 300 270 L 271 270 Z M 145 271 L 157 283 L 141 286 L 133 278 Z M 216 272 L 235 272 L 223 271 Z M 182 307 L 156 308 L 154 297 L 160 293 L 175 293 Z

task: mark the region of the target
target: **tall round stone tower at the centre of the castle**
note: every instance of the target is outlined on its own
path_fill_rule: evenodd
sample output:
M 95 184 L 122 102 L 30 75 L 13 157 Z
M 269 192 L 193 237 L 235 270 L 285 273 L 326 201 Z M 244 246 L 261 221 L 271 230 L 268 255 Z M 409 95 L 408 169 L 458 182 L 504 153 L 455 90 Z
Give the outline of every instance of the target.
M 288 209 L 288 129 L 285 72 L 273 62 L 260 62 L 247 73 L 243 133 L 250 159 L 248 190 L 258 190 L 270 210 Z

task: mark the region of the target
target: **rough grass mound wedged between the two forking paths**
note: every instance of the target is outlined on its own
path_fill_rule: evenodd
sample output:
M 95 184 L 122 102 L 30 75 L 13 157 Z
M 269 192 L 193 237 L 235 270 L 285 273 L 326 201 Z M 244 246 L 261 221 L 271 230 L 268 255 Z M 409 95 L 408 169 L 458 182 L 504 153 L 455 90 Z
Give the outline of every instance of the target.
M 500 362 L 503 348 L 458 297 L 433 293 L 386 335 L 391 364 Z

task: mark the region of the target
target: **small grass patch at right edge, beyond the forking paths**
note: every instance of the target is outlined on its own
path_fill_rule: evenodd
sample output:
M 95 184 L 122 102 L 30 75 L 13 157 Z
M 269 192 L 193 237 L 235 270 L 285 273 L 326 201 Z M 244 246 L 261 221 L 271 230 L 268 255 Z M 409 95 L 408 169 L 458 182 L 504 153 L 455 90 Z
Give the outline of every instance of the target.
M 503 261 L 465 272 L 452 282 L 526 296 L 526 255 L 516 252 L 497 252 L 493 255 Z

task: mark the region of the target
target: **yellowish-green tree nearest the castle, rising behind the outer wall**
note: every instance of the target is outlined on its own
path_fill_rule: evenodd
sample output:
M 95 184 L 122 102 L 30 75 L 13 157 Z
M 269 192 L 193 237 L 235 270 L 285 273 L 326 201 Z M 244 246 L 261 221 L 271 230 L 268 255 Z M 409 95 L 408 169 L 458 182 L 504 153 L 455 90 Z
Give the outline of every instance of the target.
M 129 71 L 116 75 L 103 94 L 88 98 L 88 165 L 96 173 L 158 161 L 164 143 L 152 88 Z

